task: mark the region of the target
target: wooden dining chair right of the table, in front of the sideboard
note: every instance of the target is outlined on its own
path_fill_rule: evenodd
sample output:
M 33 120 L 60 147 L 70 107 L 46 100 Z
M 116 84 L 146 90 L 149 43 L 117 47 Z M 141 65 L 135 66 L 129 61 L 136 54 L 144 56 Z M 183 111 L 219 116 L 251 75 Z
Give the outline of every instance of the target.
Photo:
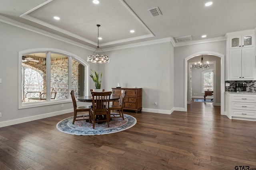
M 124 120 L 123 106 L 124 106 L 124 96 L 125 96 L 125 92 L 126 92 L 126 90 L 121 90 L 121 96 L 120 96 L 119 104 L 118 104 L 118 105 L 110 105 L 110 106 L 108 107 L 109 119 L 110 119 L 110 118 L 122 117 L 123 120 Z M 118 110 L 118 113 L 111 112 L 111 110 Z M 111 117 L 111 115 L 112 115 L 112 117 Z

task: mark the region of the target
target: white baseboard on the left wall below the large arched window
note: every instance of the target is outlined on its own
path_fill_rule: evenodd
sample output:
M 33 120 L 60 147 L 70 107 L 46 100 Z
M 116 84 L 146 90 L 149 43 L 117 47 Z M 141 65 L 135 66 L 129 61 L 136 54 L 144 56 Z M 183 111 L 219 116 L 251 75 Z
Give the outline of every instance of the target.
M 56 112 L 52 112 L 52 113 L 45 113 L 45 114 L 42 114 L 42 115 L 35 115 L 35 116 L 30 116 L 30 117 L 23 117 L 23 118 L 20 118 L 20 119 L 2 121 L 2 122 L 0 122 L 0 127 L 16 125 L 16 124 L 19 124 L 19 123 L 25 123 L 25 122 L 28 122 L 28 121 L 44 119 L 44 118 L 47 118 L 47 117 L 52 117 L 52 116 L 57 116 L 57 115 L 63 115 L 63 114 L 70 113 L 70 112 L 73 112 L 73 111 L 74 111 L 74 109 L 67 109 L 67 110 L 56 111 Z

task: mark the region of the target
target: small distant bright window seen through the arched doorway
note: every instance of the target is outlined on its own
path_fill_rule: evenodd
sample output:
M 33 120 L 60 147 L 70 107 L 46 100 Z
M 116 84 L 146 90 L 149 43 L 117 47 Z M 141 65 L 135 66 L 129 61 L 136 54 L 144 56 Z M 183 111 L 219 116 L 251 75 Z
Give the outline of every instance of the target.
M 213 91 L 213 69 L 202 72 L 202 93 L 204 91 Z

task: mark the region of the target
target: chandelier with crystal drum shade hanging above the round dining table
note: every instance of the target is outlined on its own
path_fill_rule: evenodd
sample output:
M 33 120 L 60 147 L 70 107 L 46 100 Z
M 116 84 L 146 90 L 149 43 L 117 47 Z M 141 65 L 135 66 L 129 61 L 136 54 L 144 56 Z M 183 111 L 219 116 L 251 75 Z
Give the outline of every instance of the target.
M 93 54 L 89 55 L 87 57 L 87 61 L 88 61 L 88 63 L 96 63 L 96 64 L 108 63 L 109 62 L 108 56 L 99 47 L 99 27 L 100 27 L 100 25 L 97 24 L 96 26 L 98 27 L 98 46 L 97 46 L 96 50 L 93 52 Z M 104 53 L 104 55 L 103 54 L 98 54 L 99 49 L 102 51 L 102 53 Z

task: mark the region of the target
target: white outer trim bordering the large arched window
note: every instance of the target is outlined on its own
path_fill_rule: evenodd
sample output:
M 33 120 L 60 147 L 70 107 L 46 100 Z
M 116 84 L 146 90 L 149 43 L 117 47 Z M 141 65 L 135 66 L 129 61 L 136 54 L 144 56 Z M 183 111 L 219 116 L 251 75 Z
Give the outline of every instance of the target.
M 82 58 L 78 57 L 77 55 L 74 55 L 72 53 L 69 53 L 67 51 L 63 51 L 60 49 L 51 49 L 51 48 L 39 48 L 39 49 L 28 49 L 28 50 L 24 50 L 24 51 L 19 51 L 18 52 L 18 109 L 24 109 L 24 108 L 30 108 L 30 107 L 39 107 L 39 106 L 48 106 L 48 105 L 54 105 L 54 104 L 62 104 L 62 103 L 69 103 L 72 102 L 70 95 L 68 97 L 68 99 L 62 99 L 62 100 L 46 100 L 44 102 L 34 102 L 34 103 L 27 103 L 24 104 L 22 103 L 22 55 L 27 55 L 27 54 L 31 54 L 31 53 L 59 53 L 62 55 L 65 55 L 67 57 L 69 57 L 69 61 L 71 62 L 71 59 L 76 59 L 76 61 L 80 62 L 81 64 L 83 64 L 86 68 L 86 78 L 85 78 L 85 86 L 86 86 L 86 96 L 89 95 L 89 73 L 90 73 L 90 65 L 84 61 Z M 46 63 L 49 65 L 50 64 L 50 59 L 47 59 L 49 55 L 46 55 Z M 69 63 L 70 63 L 69 62 Z M 50 69 L 48 67 L 48 69 Z M 69 68 L 70 71 L 70 68 Z M 49 72 L 49 71 L 48 71 Z M 50 74 L 50 73 L 49 73 Z M 69 81 L 71 81 L 71 74 L 69 72 Z M 49 76 L 48 76 L 49 77 Z M 47 90 L 48 93 L 50 93 L 50 86 L 47 86 L 49 89 Z M 68 87 L 68 91 L 70 91 L 71 89 L 71 84 L 69 82 L 69 87 Z M 50 96 L 49 94 L 46 96 Z M 49 97 L 50 98 L 50 97 Z

